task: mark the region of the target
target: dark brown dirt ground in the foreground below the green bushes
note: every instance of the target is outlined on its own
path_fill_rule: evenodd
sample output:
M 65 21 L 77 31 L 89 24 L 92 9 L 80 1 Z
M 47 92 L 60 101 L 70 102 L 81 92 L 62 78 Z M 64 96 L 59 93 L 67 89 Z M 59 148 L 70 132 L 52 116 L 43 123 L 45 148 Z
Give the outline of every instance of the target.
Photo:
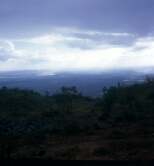
M 154 129 L 138 126 L 113 127 L 70 136 L 46 136 L 40 144 L 27 143 L 12 158 L 53 160 L 151 160 Z

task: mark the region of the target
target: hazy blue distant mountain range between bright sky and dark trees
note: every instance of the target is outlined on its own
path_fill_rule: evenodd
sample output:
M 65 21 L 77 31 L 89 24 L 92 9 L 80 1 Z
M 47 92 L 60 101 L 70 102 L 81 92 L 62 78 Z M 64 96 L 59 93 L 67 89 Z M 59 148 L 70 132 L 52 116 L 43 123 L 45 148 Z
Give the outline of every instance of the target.
M 76 86 L 82 94 L 99 96 L 104 86 L 143 82 L 145 76 L 153 76 L 154 70 L 136 72 L 117 70 L 93 73 L 52 73 L 50 71 L 12 71 L 0 72 L 0 87 L 32 89 L 40 93 L 56 93 L 62 86 Z

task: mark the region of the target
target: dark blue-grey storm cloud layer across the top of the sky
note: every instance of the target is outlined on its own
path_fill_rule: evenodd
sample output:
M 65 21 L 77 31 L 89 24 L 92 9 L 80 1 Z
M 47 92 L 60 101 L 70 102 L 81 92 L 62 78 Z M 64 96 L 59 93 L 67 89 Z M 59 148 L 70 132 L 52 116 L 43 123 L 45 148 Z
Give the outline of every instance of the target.
M 0 35 L 30 35 L 78 27 L 147 35 L 154 0 L 0 0 Z

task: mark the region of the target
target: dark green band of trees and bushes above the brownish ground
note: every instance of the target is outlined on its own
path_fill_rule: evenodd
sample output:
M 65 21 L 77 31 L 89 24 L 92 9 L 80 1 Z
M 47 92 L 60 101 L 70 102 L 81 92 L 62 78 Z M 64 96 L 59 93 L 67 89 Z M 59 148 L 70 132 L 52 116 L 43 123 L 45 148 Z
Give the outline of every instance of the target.
M 104 126 L 153 125 L 154 81 L 103 88 L 98 98 L 85 97 L 76 87 L 54 95 L 0 89 L 0 136 L 75 134 Z

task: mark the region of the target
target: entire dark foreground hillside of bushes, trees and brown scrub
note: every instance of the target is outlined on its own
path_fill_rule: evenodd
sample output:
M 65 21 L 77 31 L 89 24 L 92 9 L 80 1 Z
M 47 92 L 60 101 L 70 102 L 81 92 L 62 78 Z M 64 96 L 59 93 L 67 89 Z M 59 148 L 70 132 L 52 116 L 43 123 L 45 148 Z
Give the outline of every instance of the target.
M 150 78 L 142 84 L 104 87 L 99 98 L 82 96 L 76 87 L 62 87 L 60 93 L 52 96 L 48 92 L 41 95 L 3 87 L 0 89 L 0 158 L 115 159 L 118 148 L 123 151 L 119 159 L 145 149 L 154 154 L 153 103 L 154 80 Z M 85 137 L 89 138 L 89 147 L 85 145 Z M 141 137 L 142 146 L 138 142 Z M 92 138 L 94 145 L 90 142 Z M 138 147 L 129 142 L 132 138 L 137 139 Z M 113 142 L 104 147 L 102 140 Z M 117 146 L 114 141 L 118 141 Z M 88 151 L 90 145 L 94 149 Z M 127 155 L 123 157 L 124 154 Z

